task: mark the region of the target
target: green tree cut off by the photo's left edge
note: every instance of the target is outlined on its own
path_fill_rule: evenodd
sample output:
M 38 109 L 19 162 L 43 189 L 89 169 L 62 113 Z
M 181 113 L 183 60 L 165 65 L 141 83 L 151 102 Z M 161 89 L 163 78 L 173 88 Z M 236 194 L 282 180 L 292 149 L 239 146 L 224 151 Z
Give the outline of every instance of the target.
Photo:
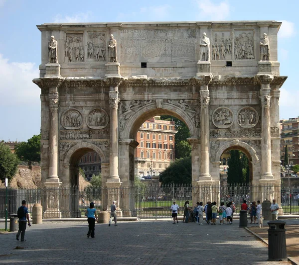
M 15 154 L 10 152 L 8 146 L 4 143 L 0 143 L 0 180 L 5 181 L 5 177 L 8 181 L 16 174 L 18 166 L 18 159 Z

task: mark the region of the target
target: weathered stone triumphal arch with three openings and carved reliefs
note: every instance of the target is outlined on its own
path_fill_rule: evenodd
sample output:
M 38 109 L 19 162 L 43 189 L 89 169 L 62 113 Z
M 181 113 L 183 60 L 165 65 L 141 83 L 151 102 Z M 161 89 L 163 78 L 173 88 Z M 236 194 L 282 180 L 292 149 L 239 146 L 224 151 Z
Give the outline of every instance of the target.
M 55 201 L 55 189 L 77 185 L 78 161 L 90 150 L 101 158 L 103 188 L 132 185 L 137 130 L 161 114 L 190 129 L 193 186 L 219 184 L 220 156 L 230 149 L 248 156 L 252 184 L 280 184 L 279 96 L 286 80 L 277 54 L 280 25 L 37 26 L 42 182 L 52 189 L 44 207 L 56 216 L 69 207 Z M 107 206 L 113 196 L 108 192 Z M 124 201 L 128 208 L 130 198 Z

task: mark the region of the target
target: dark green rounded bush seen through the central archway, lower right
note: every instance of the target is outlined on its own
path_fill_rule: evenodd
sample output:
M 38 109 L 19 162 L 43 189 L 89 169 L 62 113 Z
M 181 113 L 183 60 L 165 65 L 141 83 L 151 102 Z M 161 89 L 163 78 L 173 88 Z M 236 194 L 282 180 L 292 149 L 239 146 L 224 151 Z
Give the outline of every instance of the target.
M 191 157 L 176 159 L 159 177 L 162 184 L 189 184 L 191 177 Z

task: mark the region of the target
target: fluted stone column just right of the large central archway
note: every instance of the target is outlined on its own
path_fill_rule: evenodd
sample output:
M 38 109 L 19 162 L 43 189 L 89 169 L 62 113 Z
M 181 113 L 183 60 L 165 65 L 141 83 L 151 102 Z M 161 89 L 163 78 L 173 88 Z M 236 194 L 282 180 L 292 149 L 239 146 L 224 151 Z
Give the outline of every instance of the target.
M 200 170 L 199 180 L 210 179 L 209 173 L 209 147 L 210 147 L 210 126 L 209 126 L 209 90 L 207 86 L 201 86 L 200 90 Z

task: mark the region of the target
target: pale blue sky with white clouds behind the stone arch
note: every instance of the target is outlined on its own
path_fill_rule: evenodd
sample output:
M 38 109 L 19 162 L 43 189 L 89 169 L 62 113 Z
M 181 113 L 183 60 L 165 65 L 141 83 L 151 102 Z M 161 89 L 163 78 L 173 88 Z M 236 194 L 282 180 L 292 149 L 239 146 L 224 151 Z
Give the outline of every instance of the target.
M 297 0 L 0 0 L 0 141 L 27 141 L 40 133 L 41 33 L 59 22 L 277 20 L 281 76 L 280 117 L 299 116 Z

